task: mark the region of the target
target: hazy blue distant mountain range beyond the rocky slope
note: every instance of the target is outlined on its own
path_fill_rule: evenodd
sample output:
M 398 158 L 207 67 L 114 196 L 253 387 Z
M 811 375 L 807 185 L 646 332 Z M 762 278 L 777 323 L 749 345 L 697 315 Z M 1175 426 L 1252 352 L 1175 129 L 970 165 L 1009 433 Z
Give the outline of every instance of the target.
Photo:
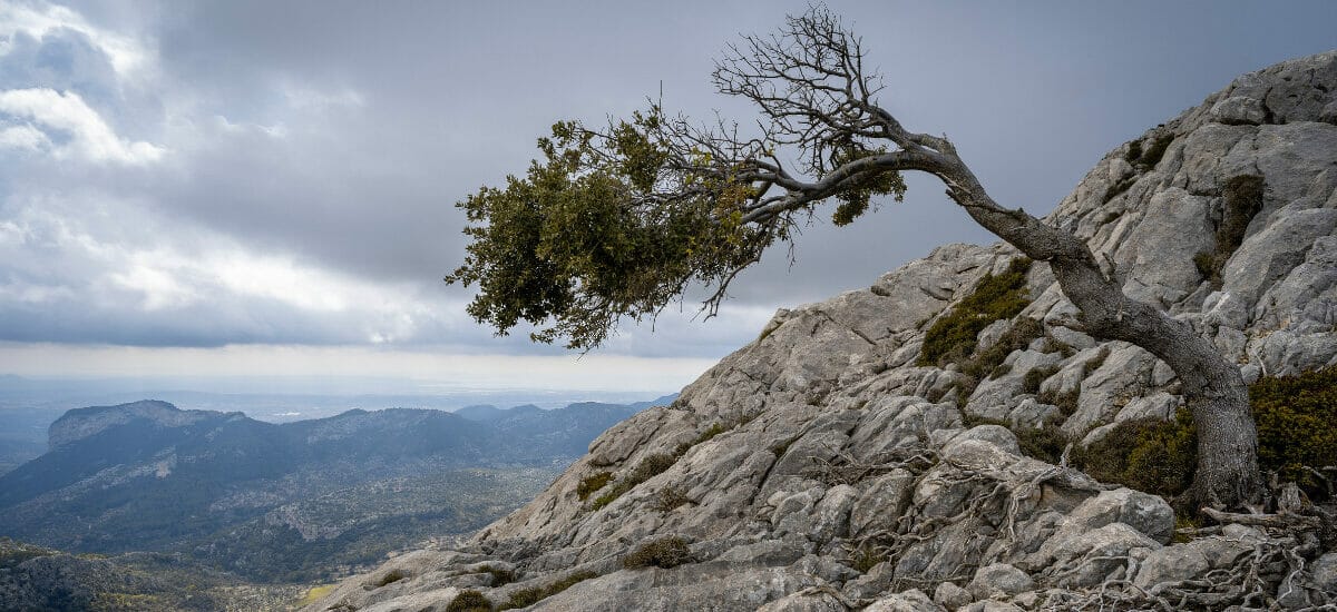
M 354 409 L 287 424 L 151 400 L 80 408 L 51 424 L 47 453 L 0 476 L 0 534 L 182 552 L 258 581 L 328 576 L 487 524 L 643 408 Z

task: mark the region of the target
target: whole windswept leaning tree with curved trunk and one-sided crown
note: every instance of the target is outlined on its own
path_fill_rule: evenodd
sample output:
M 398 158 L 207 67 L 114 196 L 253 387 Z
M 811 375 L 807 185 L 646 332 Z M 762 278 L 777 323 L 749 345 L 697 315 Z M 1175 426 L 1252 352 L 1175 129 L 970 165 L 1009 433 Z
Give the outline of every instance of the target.
M 837 16 L 812 8 L 773 35 L 743 37 L 713 80 L 755 104 L 755 135 L 658 104 L 607 126 L 559 122 L 524 178 L 460 202 L 472 243 L 447 282 L 479 285 L 469 314 L 499 334 L 523 319 L 540 326 L 535 341 L 571 349 L 598 346 L 623 317 L 652 317 L 693 283 L 713 290 L 703 309 L 714 314 L 730 281 L 818 206 L 833 203 L 846 224 L 874 196 L 900 200 L 901 172 L 928 172 L 979 224 L 1051 266 L 1080 311 L 1066 326 L 1140 346 L 1179 375 L 1198 433 L 1186 500 L 1261 500 L 1238 367 L 1189 323 L 1124 295 L 1086 242 L 995 202 L 947 138 L 901 126 L 878 106 L 881 79 Z

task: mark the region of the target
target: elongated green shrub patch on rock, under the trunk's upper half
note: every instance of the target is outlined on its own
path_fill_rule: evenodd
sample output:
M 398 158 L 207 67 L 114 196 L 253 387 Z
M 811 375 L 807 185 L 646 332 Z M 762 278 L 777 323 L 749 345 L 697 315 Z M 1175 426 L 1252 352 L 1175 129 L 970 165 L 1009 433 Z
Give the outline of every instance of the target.
M 945 366 L 965 359 L 975 351 L 976 337 L 984 327 L 1016 317 L 1031 303 L 1025 297 L 1025 273 L 1029 270 L 1031 261 L 1017 258 L 1003 274 L 985 274 L 971 295 L 928 329 L 917 363 Z

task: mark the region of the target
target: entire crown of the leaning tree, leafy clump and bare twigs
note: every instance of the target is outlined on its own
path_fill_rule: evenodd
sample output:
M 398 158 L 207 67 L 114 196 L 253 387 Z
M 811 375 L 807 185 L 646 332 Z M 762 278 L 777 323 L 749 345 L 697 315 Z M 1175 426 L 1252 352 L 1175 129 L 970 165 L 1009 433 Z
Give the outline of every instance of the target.
M 866 164 L 888 151 L 870 123 L 876 90 L 850 63 L 858 44 L 814 9 L 782 35 L 733 47 L 714 82 L 767 118 L 751 138 L 660 104 L 599 127 L 558 122 L 523 178 L 457 204 L 472 242 L 447 282 L 477 283 L 468 311 L 497 333 L 524 321 L 541 327 L 535 341 L 572 349 L 598 346 L 624 317 L 655 315 L 693 283 L 710 291 L 714 314 L 734 277 L 792 239 L 814 206 L 837 200 L 832 219 L 846 224 L 878 196 L 904 196 L 897 170 Z M 782 156 L 800 159 L 797 178 Z M 813 184 L 804 175 L 830 184 L 794 206 L 796 187 Z

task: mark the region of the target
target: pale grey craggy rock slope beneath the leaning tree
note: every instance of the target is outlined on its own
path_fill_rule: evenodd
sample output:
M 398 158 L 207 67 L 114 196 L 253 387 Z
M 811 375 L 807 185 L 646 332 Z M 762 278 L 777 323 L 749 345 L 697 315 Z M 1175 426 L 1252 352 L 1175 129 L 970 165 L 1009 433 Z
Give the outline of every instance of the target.
M 1334 92 L 1337 52 L 1241 76 L 1108 154 L 1048 222 L 1246 379 L 1337 363 Z M 1238 191 L 1254 180 L 1241 176 L 1261 176 L 1261 194 Z M 977 385 L 959 365 L 919 365 L 933 321 L 1015 257 L 944 246 L 869 289 L 781 310 L 461 551 L 392 559 L 308 609 L 440 609 L 460 588 L 554 611 L 1337 604 L 1337 565 L 1313 543 L 1292 543 L 1294 559 L 1317 559 L 1298 565 L 1254 526 L 1171 543 L 1161 497 L 1027 457 L 1008 428 L 967 425 L 1052 424 L 1082 440 L 1182 402 L 1174 373 L 1142 349 L 1052 325 L 1074 306 L 1043 263 L 1027 277 L 1029 306 L 980 333 L 1001 342 L 1031 318 L 1042 337 Z M 664 537 L 689 545 L 689 563 L 623 567 Z M 390 573 L 402 580 L 378 587 Z M 516 597 L 527 589 L 543 597 Z

